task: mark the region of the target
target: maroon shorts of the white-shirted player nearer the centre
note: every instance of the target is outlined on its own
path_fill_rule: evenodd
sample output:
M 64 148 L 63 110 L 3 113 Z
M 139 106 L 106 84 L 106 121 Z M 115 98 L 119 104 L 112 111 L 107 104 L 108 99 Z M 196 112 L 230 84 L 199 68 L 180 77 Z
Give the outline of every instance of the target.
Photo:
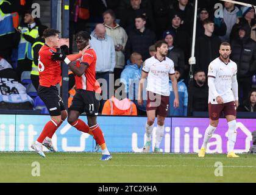
M 146 110 L 156 110 L 156 115 L 166 117 L 168 115 L 169 96 L 162 96 L 160 94 L 148 91 Z

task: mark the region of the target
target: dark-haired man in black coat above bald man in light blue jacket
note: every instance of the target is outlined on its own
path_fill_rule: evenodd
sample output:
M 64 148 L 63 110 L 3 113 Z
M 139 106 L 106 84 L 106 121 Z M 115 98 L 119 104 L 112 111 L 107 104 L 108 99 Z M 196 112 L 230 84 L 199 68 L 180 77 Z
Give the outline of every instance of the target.
M 131 30 L 126 43 L 126 59 L 129 59 L 133 52 L 140 53 L 143 61 L 150 57 L 149 46 L 155 43 L 155 33 L 146 29 L 145 24 L 144 15 L 135 18 L 136 29 Z

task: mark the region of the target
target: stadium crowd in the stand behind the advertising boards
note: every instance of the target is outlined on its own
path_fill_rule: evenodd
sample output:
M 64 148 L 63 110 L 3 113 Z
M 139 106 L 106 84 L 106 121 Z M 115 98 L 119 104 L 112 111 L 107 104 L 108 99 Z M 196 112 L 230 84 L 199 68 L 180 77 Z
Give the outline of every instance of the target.
M 10 98 L 9 101 L 0 98 L 0 109 L 40 109 L 42 113 L 47 112 L 37 97 L 37 88 L 38 51 L 44 44 L 43 31 L 48 27 L 41 24 L 40 18 L 33 18 L 33 2 L 0 0 L 0 96 L 21 94 L 20 91 L 26 87 L 20 101 L 19 98 Z M 216 16 L 216 3 L 223 5 L 222 17 Z M 90 32 L 90 45 L 97 55 L 96 79 L 105 79 L 108 84 L 105 94 L 108 100 L 101 101 L 100 113 L 146 115 L 146 101 L 138 105 L 138 88 L 133 86 L 140 82 L 144 60 L 155 55 L 154 43 L 157 40 L 168 43 L 167 57 L 174 62 L 178 81 L 180 105 L 174 108 L 170 104 L 169 116 L 193 116 L 194 112 L 207 112 L 208 65 L 219 56 L 222 41 L 231 44 L 230 59 L 238 66 L 238 111 L 256 112 L 255 10 L 229 2 L 199 0 L 196 65 L 193 65 L 193 80 L 190 81 L 188 59 L 191 55 L 193 12 L 193 1 L 190 0 L 70 0 L 69 51 L 66 52 L 77 52 L 74 40 L 77 32 Z M 116 98 L 115 93 L 110 96 L 108 89 L 112 80 L 119 80 L 119 85 L 124 85 L 125 96 Z M 171 103 L 174 99 L 171 80 L 169 89 Z M 69 71 L 69 105 L 75 90 L 74 75 Z M 146 94 L 146 86 L 143 93 Z

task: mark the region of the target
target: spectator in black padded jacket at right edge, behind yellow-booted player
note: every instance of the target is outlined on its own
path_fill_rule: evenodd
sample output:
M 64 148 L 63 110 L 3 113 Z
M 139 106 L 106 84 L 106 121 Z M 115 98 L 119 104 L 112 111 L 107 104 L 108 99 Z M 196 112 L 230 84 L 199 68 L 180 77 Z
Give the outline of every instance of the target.
M 250 38 L 246 24 L 238 27 L 238 35 L 231 41 L 231 59 L 237 65 L 238 96 L 240 104 L 251 91 L 252 75 L 256 73 L 256 42 Z

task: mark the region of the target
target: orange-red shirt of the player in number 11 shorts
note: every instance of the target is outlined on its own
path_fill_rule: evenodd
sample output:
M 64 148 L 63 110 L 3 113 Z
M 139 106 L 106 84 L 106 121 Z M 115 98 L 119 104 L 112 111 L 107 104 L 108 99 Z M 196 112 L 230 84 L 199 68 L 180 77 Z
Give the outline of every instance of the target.
M 82 76 L 75 76 L 76 88 L 81 90 L 96 91 L 96 52 L 89 48 L 85 54 L 76 61 L 76 66 L 79 68 L 80 64 L 87 65 L 88 68 Z

